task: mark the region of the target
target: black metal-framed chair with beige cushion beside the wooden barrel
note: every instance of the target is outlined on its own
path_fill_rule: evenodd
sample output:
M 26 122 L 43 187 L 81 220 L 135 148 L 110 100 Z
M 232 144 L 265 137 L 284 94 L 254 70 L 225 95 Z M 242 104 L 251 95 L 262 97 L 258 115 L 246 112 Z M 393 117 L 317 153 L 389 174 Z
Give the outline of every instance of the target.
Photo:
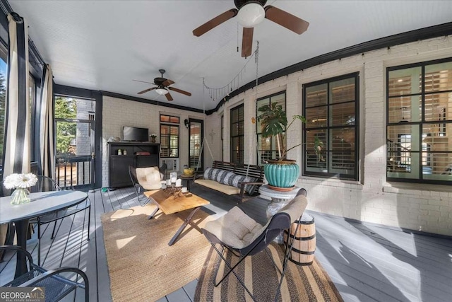
M 236 272 L 234 272 L 234 269 L 237 265 L 242 263 L 247 256 L 256 255 L 258 252 L 265 250 L 266 254 L 273 262 L 273 265 L 281 275 L 278 290 L 275 294 L 275 301 L 277 301 L 287 268 L 287 260 L 289 260 L 289 255 L 292 252 L 294 240 L 287 240 L 285 244 L 285 256 L 282 271 L 279 269 L 278 265 L 275 264 L 273 257 L 271 257 L 268 252 L 268 245 L 284 230 L 288 230 L 291 223 L 295 222 L 297 219 L 302 219 L 306 206 L 306 190 L 301 189 L 295 199 L 292 199 L 292 201 L 283 207 L 283 209 L 280 209 L 280 211 L 269 219 L 266 226 L 261 226 L 256 223 L 256 221 L 247 216 L 241 209 L 239 209 L 239 207 L 234 207 L 228 211 L 225 216 L 222 216 L 215 221 L 206 223 L 206 226 L 201 229 L 204 236 L 206 236 L 210 244 L 218 252 L 218 255 L 220 255 L 221 259 L 229 268 L 229 271 L 227 271 L 222 279 L 218 282 L 215 281 L 214 285 L 220 285 L 221 282 L 232 272 L 232 274 L 237 277 L 240 284 L 242 284 L 246 292 L 254 301 L 256 301 L 256 298 L 254 298 L 253 294 L 251 294 L 249 289 L 245 286 L 244 281 L 240 279 Z M 299 225 L 297 224 L 295 232 L 298 231 L 298 226 Z M 221 246 L 221 250 L 217 248 L 217 244 Z M 227 261 L 227 255 L 225 255 L 225 252 L 228 251 L 232 252 L 232 254 L 236 257 L 239 257 L 239 260 L 234 266 Z M 217 265 L 215 280 L 217 280 L 219 267 L 220 265 Z

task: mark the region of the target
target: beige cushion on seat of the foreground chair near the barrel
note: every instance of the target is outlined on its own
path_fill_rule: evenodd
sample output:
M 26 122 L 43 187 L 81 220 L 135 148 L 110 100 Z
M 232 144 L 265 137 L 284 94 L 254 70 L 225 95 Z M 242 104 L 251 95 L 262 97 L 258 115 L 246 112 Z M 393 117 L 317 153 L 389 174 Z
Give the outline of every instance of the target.
M 244 248 L 261 235 L 264 227 L 244 214 L 239 207 L 233 207 L 219 219 L 206 223 L 204 228 L 226 245 Z

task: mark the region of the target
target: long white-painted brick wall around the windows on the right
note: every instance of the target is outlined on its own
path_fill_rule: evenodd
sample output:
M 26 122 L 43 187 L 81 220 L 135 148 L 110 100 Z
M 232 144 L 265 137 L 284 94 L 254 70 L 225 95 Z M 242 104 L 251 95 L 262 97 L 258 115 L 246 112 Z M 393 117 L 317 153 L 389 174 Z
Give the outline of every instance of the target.
M 241 93 L 222 106 L 225 114 L 225 161 L 229 160 L 230 109 L 244 102 L 245 157 L 256 145 L 251 143 L 253 129 L 249 120 L 255 117 L 255 99 L 278 91 L 287 91 L 287 112 L 302 114 L 302 84 L 359 71 L 360 95 L 360 179 L 357 182 L 302 177 L 299 187 L 308 192 L 308 209 L 359 219 L 388 226 L 452 236 L 452 189 L 440 185 L 386 182 L 386 67 L 441 59 L 452 56 L 452 37 L 437 37 L 389 50 L 375 50 L 364 55 L 335 60 L 304 71 L 297 71 Z M 259 62 L 263 64 L 262 62 Z M 283 66 L 281 66 L 283 67 Z M 215 125 L 213 114 L 209 124 Z M 287 134 L 289 146 L 302 141 L 300 131 Z M 220 143 L 220 142 L 219 142 Z M 253 145 L 254 144 L 254 145 Z M 221 146 L 219 146 L 221 147 Z M 290 152 L 290 158 L 302 162 L 301 149 Z M 256 161 L 255 155 L 250 163 Z M 247 162 L 247 161 L 245 161 Z

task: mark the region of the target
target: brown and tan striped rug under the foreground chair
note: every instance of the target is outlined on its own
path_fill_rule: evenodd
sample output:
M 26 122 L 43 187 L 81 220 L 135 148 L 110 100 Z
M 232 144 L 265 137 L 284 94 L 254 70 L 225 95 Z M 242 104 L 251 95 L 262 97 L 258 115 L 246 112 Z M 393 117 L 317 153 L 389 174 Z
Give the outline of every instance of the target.
M 278 267 L 282 267 L 283 248 L 272 243 L 269 249 Z M 228 252 L 227 259 L 237 263 L 238 258 Z M 213 286 L 215 269 L 219 263 L 218 281 L 227 272 L 225 262 L 219 260 L 218 253 L 210 248 L 196 286 L 195 301 L 252 301 L 251 296 L 232 273 L 218 287 Z M 247 257 L 234 271 L 244 280 L 256 301 L 274 301 L 280 274 L 265 251 Z M 328 274 L 319 262 L 314 260 L 312 265 L 308 266 L 288 262 L 278 301 L 343 301 L 343 299 Z

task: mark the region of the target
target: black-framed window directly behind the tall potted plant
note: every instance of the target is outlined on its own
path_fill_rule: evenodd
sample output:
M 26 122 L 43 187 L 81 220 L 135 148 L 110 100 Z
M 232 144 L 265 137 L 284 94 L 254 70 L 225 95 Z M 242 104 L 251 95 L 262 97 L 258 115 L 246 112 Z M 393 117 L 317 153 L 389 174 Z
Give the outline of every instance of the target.
M 281 105 L 285 110 L 285 91 L 278 92 L 273 95 L 268 95 L 264 98 L 258 98 L 256 104 L 256 116 L 259 116 L 261 114 L 261 112 L 258 112 L 259 108 L 261 108 L 263 105 L 271 105 L 272 103 Z M 256 133 L 258 142 L 257 163 L 263 164 L 266 163 L 268 159 L 278 158 L 278 146 L 276 137 L 262 137 L 261 122 L 256 122 Z

